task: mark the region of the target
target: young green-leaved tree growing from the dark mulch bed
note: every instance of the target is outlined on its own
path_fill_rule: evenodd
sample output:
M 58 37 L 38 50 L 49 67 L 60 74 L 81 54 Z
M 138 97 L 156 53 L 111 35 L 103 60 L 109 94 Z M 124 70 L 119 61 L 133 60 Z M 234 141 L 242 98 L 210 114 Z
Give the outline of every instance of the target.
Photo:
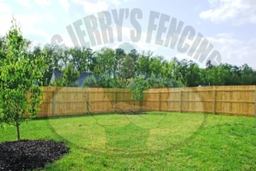
M 36 81 L 40 82 L 44 75 L 44 56 L 30 60 L 27 45 L 13 19 L 6 55 L 0 63 L 0 124 L 15 125 L 18 140 L 20 123 L 35 117 L 42 102 L 42 89 Z

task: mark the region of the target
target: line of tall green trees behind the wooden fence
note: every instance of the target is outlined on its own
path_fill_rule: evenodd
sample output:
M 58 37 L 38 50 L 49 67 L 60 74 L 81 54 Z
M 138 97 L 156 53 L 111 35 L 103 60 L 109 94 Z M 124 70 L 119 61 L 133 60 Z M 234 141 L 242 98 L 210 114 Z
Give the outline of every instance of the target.
M 5 37 L 0 37 L 1 49 L 6 48 L 6 41 Z M 44 61 L 47 69 L 42 86 L 49 86 L 53 71 L 61 71 L 71 80 L 76 79 L 79 73 L 92 73 L 93 77 L 86 80 L 89 87 L 125 88 L 132 79 L 141 76 L 151 83 L 152 88 L 196 87 L 202 84 L 256 85 L 256 71 L 247 64 L 213 66 L 209 60 L 206 67 L 201 68 L 192 60 L 177 60 L 174 57 L 167 61 L 163 56 L 152 52 L 138 53 L 136 49 L 125 53 L 121 48 L 92 50 L 84 47 L 61 48 L 50 44 L 33 47 L 29 53 L 32 60 L 46 54 Z M 0 60 L 4 55 L 0 54 Z M 59 81 L 57 85 L 65 86 L 65 83 Z

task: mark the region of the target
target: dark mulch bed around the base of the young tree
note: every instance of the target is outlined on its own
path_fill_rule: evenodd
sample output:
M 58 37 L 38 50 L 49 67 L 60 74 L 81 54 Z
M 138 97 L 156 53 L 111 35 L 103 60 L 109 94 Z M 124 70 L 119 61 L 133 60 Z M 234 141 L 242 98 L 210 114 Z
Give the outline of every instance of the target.
M 67 152 L 67 145 L 52 140 L 3 142 L 0 143 L 0 170 L 44 168 Z

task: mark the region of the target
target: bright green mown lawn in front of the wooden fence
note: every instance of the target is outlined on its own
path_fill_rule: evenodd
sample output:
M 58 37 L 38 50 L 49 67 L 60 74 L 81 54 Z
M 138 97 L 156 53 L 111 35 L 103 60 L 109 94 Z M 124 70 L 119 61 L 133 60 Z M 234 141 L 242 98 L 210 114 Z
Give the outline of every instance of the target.
M 44 170 L 254 170 L 256 120 L 189 113 L 37 119 L 22 139 L 65 141 L 71 151 Z M 16 140 L 14 127 L 0 142 Z

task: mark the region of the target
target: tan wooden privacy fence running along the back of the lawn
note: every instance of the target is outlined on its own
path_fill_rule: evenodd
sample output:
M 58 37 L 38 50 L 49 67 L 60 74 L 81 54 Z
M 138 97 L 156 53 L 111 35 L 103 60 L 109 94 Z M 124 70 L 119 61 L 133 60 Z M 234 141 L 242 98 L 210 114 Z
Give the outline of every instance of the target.
M 256 116 L 256 86 L 154 88 L 143 100 L 131 100 L 129 89 L 44 87 L 38 117 L 125 111 L 178 111 Z

